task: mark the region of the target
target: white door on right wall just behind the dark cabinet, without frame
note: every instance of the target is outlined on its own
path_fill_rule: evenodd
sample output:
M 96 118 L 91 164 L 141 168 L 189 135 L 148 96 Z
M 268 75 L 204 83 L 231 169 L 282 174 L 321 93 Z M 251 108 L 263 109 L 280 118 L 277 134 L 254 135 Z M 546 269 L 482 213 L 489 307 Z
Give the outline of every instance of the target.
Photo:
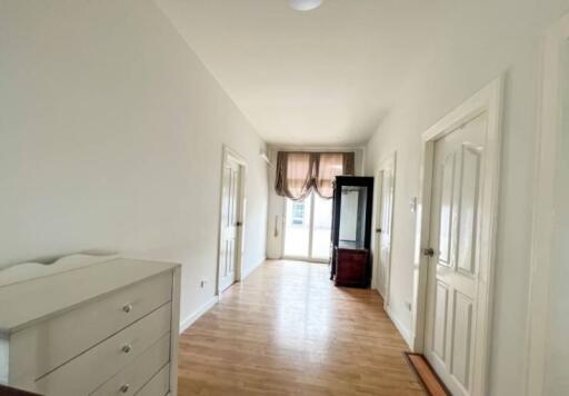
M 379 174 L 379 212 L 376 226 L 376 238 L 378 246 L 376 265 L 376 287 L 383 297 L 386 305 L 389 304 L 389 276 L 391 265 L 391 228 L 393 224 L 393 198 L 395 198 L 395 155 L 381 165 Z

